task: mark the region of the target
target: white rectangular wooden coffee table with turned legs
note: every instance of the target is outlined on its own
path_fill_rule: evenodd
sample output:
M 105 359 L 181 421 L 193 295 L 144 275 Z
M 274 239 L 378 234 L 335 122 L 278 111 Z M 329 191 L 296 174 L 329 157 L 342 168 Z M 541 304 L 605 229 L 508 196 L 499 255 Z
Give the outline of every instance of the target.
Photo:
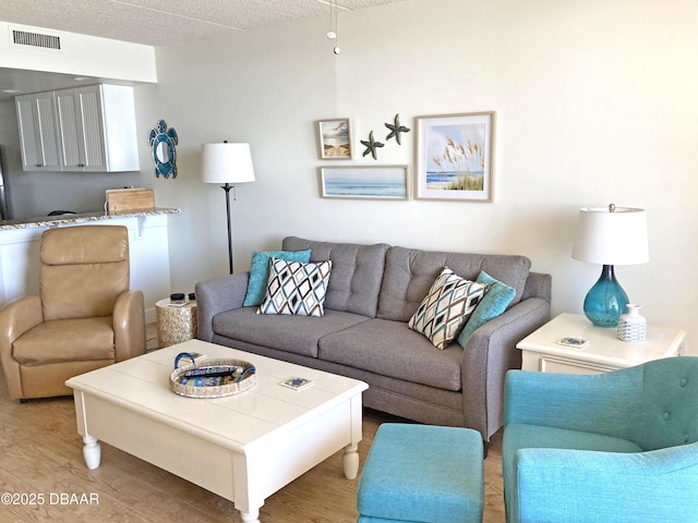
M 227 398 L 178 396 L 169 388 L 173 361 L 192 351 L 249 361 L 257 384 Z M 296 376 L 314 385 L 279 385 Z M 89 469 L 105 441 L 233 501 L 245 522 L 258 522 L 268 496 L 341 449 L 347 478 L 359 472 L 363 381 L 190 340 L 67 385 Z

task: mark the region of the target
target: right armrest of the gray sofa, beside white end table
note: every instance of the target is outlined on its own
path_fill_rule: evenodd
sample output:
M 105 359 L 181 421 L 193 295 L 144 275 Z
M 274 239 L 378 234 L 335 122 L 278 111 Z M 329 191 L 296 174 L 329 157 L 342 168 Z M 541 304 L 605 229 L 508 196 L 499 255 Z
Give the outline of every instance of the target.
M 465 423 L 480 430 L 485 441 L 503 425 L 506 373 L 521 368 L 516 344 L 549 320 L 549 302 L 524 300 L 478 328 L 466 344 L 461 369 Z

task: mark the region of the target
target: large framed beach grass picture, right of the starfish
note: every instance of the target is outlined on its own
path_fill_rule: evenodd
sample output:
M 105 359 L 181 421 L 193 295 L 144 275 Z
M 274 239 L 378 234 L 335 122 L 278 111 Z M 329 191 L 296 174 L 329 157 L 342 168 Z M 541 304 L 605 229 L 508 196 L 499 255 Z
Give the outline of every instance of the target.
M 416 196 L 494 202 L 494 112 L 417 117 Z

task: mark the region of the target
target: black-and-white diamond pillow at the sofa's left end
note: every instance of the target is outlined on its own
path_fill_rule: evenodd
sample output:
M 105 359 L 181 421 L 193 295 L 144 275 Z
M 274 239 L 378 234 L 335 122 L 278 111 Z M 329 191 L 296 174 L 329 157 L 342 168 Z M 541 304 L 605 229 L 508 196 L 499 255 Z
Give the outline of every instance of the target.
M 269 259 L 269 281 L 257 314 L 324 316 L 332 262 Z

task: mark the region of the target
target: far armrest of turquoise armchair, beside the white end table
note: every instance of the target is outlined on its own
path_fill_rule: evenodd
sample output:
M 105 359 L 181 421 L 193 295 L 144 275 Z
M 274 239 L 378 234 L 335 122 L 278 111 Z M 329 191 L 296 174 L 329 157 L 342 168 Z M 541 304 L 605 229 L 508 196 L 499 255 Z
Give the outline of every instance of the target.
M 504 424 L 542 425 L 628 438 L 643 408 L 642 368 L 599 375 L 512 370 L 506 376 Z

